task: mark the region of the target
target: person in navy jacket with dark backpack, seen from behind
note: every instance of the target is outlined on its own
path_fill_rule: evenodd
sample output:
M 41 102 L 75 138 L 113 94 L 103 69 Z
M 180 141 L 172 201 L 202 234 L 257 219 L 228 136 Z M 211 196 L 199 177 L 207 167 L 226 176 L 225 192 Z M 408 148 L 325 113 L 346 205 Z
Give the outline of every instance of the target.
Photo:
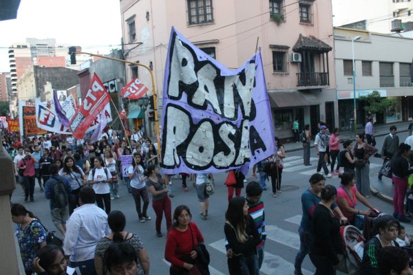
M 54 226 L 64 237 L 66 234 L 66 221 L 69 219 L 69 194 L 72 192 L 66 177 L 59 175 L 56 164 L 50 165 L 50 179 L 45 183 L 45 197 L 50 199 L 50 215 Z

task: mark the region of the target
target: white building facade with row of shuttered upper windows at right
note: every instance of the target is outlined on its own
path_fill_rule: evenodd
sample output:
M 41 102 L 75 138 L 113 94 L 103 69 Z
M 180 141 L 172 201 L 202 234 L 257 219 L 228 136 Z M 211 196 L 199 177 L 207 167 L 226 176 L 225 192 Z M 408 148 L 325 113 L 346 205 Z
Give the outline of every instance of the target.
M 339 127 L 348 129 L 353 118 L 352 39 L 354 39 L 354 72 L 356 98 L 379 91 L 392 105 L 382 113 L 363 110 L 357 100 L 357 124 L 363 127 L 372 116 L 377 124 L 412 120 L 413 88 L 411 65 L 413 39 L 361 30 L 335 28 L 335 66 Z

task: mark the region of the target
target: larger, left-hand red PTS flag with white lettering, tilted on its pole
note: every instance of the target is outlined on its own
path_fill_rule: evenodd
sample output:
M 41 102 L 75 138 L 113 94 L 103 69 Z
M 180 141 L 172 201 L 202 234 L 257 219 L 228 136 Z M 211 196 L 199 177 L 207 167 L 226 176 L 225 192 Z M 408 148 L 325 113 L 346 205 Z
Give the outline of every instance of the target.
M 80 139 L 85 135 L 90 124 L 105 109 L 110 101 L 109 93 L 96 74 L 93 75 L 92 82 L 87 91 L 87 95 L 81 106 L 78 107 L 70 121 L 70 129 L 74 137 Z

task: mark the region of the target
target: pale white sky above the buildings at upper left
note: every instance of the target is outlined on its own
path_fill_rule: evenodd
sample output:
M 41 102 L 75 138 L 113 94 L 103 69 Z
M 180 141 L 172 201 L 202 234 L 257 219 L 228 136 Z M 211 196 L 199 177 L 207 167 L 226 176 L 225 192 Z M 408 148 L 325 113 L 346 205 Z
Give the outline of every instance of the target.
M 28 37 L 105 54 L 122 38 L 119 0 L 21 0 L 17 19 L 0 21 L 0 72 L 10 72 L 8 47 Z

